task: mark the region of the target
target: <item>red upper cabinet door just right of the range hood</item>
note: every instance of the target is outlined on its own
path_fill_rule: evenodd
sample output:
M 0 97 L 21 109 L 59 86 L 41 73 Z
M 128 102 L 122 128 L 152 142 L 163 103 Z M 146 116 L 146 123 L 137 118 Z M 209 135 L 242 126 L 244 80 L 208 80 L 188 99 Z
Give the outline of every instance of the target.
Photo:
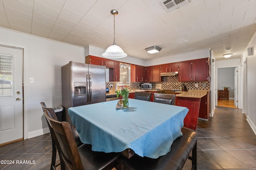
M 192 62 L 186 61 L 179 63 L 179 81 L 190 82 L 192 81 Z

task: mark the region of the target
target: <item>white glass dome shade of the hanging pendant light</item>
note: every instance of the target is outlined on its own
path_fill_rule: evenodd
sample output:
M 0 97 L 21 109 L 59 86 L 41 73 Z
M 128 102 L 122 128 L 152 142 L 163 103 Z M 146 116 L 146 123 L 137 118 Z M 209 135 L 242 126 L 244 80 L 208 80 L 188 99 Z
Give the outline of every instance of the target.
M 103 57 L 109 58 L 109 59 L 120 59 L 127 56 L 126 53 L 119 47 L 118 45 L 110 45 L 106 52 L 102 54 Z

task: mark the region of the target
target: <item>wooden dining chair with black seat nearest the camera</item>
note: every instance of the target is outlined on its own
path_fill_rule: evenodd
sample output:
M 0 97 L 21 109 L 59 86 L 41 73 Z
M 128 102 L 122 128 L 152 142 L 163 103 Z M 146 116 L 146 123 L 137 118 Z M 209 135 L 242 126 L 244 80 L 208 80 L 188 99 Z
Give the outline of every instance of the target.
M 50 108 L 49 111 L 51 113 L 54 110 Z M 77 147 L 68 122 L 52 119 L 47 110 L 44 110 L 44 115 L 60 152 L 61 169 L 68 167 L 71 170 L 111 170 L 119 163 L 121 153 L 95 152 L 88 144 Z

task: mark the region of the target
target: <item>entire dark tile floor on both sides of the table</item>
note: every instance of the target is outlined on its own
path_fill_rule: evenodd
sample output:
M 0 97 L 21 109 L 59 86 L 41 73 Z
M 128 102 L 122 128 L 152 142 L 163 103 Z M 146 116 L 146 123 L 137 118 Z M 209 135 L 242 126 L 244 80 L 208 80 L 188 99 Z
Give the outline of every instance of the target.
M 217 107 L 209 121 L 198 121 L 197 131 L 198 170 L 256 168 L 256 135 L 241 109 Z M 0 160 L 14 164 L 0 164 L 0 169 L 50 169 L 51 148 L 49 134 L 1 146 Z M 190 169 L 190 162 L 183 169 Z

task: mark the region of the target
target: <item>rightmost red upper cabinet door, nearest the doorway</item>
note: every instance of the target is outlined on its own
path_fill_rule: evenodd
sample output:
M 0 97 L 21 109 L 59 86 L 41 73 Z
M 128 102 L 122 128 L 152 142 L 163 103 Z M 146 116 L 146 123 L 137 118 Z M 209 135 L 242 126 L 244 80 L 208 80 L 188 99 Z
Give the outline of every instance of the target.
M 209 81 L 209 58 L 192 61 L 192 81 Z

